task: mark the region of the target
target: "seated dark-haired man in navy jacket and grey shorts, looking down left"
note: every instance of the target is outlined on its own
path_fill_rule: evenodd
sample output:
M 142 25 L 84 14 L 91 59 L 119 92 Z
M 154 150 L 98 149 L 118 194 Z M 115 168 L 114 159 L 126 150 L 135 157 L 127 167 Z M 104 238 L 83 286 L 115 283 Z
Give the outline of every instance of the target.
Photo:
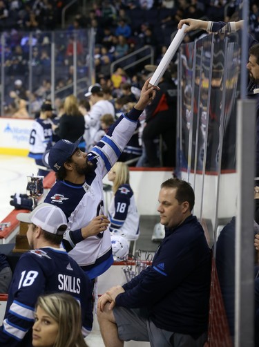
M 134 339 L 151 346 L 203 347 L 207 339 L 211 252 L 191 214 L 193 189 L 171 178 L 162 183 L 158 200 L 166 236 L 152 265 L 99 298 L 97 318 L 106 346 Z

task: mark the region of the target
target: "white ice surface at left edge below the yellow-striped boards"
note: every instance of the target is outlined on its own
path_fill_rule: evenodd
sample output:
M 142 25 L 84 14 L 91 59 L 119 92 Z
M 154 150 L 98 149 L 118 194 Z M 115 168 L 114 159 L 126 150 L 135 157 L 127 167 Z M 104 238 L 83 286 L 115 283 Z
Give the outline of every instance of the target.
M 0 222 L 14 209 L 10 205 L 10 196 L 26 194 L 27 176 L 32 173 L 37 176 L 34 159 L 0 154 Z

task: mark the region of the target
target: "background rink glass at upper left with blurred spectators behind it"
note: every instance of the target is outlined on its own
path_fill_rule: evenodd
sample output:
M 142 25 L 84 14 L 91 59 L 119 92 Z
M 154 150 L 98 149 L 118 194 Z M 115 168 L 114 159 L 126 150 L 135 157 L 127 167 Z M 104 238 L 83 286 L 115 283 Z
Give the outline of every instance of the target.
M 1 116 L 20 99 L 34 117 L 40 101 L 58 106 L 70 94 L 84 97 L 95 82 L 93 30 L 4 32 L 1 35 Z

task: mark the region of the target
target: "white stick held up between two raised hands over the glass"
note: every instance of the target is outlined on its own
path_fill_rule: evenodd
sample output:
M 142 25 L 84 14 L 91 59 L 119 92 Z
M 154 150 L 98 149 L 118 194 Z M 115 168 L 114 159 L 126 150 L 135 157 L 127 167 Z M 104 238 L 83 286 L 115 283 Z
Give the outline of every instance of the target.
M 175 37 L 173 38 L 173 41 L 171 42 L 169 48 L 167 48 L 166 53 L 164 54 L 164 57 L 162 57 L 162 60 L 160 64 L 155 69 L 155 72 L 153 76 L 151 77 L 150 84 L 152 86 L 157 86 L 158 82 L 160 82 L 160 79 L 162 75 L 164 75 L 164 72 L 166 71 L 166 68 L 168 68 L 171 60 L 173 59 L 173 56 L 175 55 L 176 51 L 178 50 L 180 44 L 182 43 L 182 40 L 184 39 L 185 32 L 184 30 L 188 26 L 184 24 L 182 28 L 178 30 Z

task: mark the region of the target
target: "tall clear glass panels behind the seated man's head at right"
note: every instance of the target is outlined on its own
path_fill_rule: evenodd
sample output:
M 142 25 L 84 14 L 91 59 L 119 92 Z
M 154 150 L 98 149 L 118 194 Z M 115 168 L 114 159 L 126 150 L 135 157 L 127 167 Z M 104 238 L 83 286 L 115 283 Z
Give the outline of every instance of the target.
M 182 45 L 179 57 L 177 172 L 195 191 L 193 214 L 213 247 L 227 314 L 227 333 L 233 337 L 238 36 L 207 35 L 194 44 Z

